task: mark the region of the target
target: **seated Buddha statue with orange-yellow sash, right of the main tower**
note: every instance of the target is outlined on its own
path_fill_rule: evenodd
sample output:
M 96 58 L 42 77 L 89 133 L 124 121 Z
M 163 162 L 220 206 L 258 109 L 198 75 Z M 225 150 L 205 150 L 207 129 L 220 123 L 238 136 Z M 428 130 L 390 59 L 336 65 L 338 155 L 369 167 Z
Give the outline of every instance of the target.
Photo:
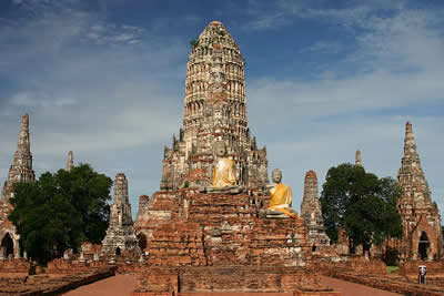
M 261 217 L 272 218 L 299 218 L 297 212 L 291 207 L 292 192 L 290 186 L 281 183 L 282 172 L 274 169 L 272 172 L 273 184 L 268 185 L 271 196 L 270 206 L 266 210 L 261 210 Z

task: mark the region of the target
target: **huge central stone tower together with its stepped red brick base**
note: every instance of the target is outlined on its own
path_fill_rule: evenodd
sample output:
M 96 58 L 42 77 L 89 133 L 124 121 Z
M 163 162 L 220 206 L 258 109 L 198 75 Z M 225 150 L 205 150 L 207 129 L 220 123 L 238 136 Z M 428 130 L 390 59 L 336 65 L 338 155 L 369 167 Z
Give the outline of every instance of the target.
M 165 149 L 161 191 L 140 197 L 134 228 L 144 267 L 137 295 L 307 287 L 320 295 L 317 277 L 306 267 L 311 244 L 304 221 L 259 217 L 270 204 L 268 163 L 246 126 L 244 85 L 236 43 L 221 22 L 211 22 L 191 50 L 184 129 Z M 199 190 L 211 183 L 216 141 L 225 143 L 244 193 Z

